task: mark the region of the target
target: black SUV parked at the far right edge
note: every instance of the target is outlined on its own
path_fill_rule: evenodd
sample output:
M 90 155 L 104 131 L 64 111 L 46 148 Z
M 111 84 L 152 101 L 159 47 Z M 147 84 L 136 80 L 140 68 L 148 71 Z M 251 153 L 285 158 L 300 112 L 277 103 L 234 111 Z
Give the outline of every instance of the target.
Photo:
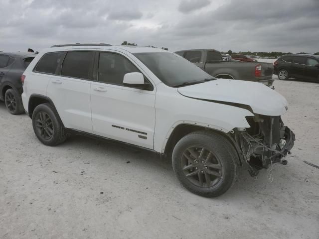
M 319 55 L 285 55 L 274 62 L 274 74 L 279 80 L 302 78 L 319 82 Z

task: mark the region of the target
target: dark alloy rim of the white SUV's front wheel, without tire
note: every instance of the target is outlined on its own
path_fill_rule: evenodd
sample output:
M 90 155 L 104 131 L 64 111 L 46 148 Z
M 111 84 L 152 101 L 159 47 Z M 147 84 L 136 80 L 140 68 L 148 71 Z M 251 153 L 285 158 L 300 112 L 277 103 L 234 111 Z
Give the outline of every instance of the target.
M 218 157 L 201 146 L 192 146 L 183 152 L 181 168 L 191 183 L 203 188 L 216 185 L 223 173 Z

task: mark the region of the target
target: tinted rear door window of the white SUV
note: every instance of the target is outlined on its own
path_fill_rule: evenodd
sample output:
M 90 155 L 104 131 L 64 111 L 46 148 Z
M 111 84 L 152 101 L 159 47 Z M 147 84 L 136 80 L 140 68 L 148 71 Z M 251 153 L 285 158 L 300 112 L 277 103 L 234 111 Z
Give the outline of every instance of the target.
M 92 79 L 93 56 L 92 51 L 68 52 L 63 60 L 61 75 Z

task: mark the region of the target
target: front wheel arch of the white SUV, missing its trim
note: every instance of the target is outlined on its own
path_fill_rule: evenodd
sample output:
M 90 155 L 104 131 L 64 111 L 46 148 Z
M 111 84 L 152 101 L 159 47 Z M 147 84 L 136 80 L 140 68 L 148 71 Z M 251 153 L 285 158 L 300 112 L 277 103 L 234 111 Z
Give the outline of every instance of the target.
M 176 143 L 185 135 L 195 132 L 195 131 L 206 131 L 208 133 L 216 133 L 223 138 L 225 138 L 231 145 L 233 145 L 237 156 L 238 156 L 238 163 L 239 165 L 242 165 L 242 153 L 239 149 L 239 146 L 236 144 L 235 140 L 232 138 L 231 133 L 226 133 L 225 131 L 218 130 L 215 128 L 203 126 L 203 125 L 196 125 L 191 123 L 179 123 L 175 127 L 173 127 L 173 130 L 169 134 L 165 146 L 164 146 L 164 154 L 171 154 L 173 148 L 175 147 Z

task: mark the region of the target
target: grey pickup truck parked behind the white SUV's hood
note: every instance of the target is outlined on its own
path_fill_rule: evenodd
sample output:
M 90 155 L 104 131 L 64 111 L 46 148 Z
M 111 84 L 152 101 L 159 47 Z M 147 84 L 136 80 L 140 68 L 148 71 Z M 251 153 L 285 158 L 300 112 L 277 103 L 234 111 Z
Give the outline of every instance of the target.
M 254 81 L 266 86 L 271 86 L 274 82 L 272 63 L 223 61 L 221 53 L 213 49 L 182 50 L 175 53 L 216 78 Z

